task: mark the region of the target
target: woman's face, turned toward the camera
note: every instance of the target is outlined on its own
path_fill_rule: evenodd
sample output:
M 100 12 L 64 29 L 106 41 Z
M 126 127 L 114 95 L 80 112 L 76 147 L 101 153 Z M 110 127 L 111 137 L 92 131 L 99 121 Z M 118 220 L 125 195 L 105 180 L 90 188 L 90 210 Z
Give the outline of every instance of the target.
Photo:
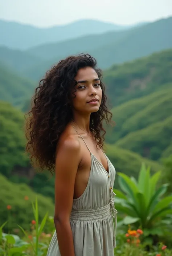
M 99 110 L 102 100 L 100 79 L 91 67 L 81 68 L 75 77 L 77 85 L 72 94 L 73 109 L 82 113 Z

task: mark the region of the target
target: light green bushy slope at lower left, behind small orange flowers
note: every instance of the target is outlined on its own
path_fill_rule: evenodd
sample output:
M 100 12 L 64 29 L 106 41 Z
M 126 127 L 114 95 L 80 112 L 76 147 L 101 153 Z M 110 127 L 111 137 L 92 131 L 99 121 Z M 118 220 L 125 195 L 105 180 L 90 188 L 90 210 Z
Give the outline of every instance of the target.
M 32 202 L 37 197 L 39 206 L 39 218 L 42 220 L 46 214 L 54 215 L 54 205 L 50 198 L 36 194 L 26 184 L 14 184 L 9 182 L 5 176 L 0 175 L 0 225 L 7 220 L 5 230 L 16 228 L 16 224 L 29 229 L 31 221 L 35 218 L 32 211 Z M 11 210 L 7 209 L 11 206 Z M 38 215 L 36 215 L 38 218 Z

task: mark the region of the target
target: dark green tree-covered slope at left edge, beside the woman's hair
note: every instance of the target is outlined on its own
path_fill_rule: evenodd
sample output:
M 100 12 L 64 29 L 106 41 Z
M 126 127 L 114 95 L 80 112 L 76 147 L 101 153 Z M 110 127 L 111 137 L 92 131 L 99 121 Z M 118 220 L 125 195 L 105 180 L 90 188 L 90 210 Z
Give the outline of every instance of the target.
M 9 103 L 0 102 L 0 172 L 9 176 L 17 166 L 28 167 L 25 136 L 22 130 L 24 116 Z

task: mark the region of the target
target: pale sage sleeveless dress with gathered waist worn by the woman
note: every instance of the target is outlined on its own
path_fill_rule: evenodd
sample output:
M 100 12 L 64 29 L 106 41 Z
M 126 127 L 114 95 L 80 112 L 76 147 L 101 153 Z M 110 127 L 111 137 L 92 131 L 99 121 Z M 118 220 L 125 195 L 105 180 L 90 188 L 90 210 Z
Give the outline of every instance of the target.
M 82 136 L 81 138 L 83 139 Z M 90 151 L 88 146 L 87 148 Z M 83 194 L 73 199 L 70 215 L 75 256 L 114 256 L 117 214 L 114 208 L 113 192 L 115 168 L 106 157 L 107 172 L 91 151 L 90 155 L 89 181 Z M 50 242 L 47 256 L 61 256 L 56 231 Z

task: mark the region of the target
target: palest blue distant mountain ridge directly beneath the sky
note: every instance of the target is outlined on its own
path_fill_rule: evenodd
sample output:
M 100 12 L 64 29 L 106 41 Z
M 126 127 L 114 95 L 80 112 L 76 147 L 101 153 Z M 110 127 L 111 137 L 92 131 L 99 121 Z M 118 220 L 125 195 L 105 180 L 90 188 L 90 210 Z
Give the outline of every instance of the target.
M 136 24 L 137 25 L 137 24 Z M 98 20 L 79 20 L 67 25 L 38 28 L 32 25 L 0 20 L 1 46 L 25 50 L 30 47 L 69 40 L 88 34 L 101 34 L 107 31 L 119 31 L 133 26 L 116 25 Z M 143 25 L 142 23 L 138 24 Z

